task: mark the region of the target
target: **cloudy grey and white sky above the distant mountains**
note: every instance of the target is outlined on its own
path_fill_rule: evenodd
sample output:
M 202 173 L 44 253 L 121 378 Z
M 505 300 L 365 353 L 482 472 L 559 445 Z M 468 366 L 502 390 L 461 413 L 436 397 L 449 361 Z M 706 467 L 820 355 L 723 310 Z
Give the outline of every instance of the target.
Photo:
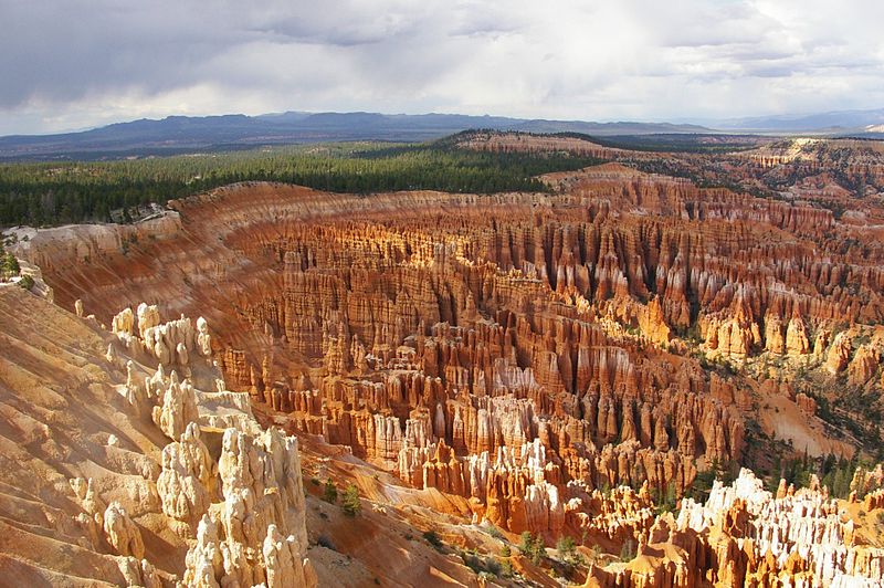
M 882 0 L 0 0 L 0 135 L 284 111 L 884 106 Z

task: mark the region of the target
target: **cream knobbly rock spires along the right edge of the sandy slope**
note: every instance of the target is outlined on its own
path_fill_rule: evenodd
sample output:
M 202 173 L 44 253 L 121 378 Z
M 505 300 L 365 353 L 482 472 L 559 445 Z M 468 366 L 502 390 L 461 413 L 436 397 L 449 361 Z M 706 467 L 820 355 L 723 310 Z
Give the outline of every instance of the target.
M 158 316 L 152 316 L 149 307 L 143 308 L 139 325 L 146 321 L 143 333 L 147 342 L 151 334 L 162 333 L 188 348 L 197 345 L 197 357 L 201 357 L 203 349 L 198 344 L 204 336 L 206 349 L 211 351 L 204 321 L 198 321 L 194 334 L 187 319 L 158 325 Z M 158 339 L 152 336 L 152 340 Z M 149 345 L 145 351 L 150 355 Z M 148 398 L 160 402 L 154 407 L 154 421 L 168 437 L 179 438 L 162 450 L 157 492 L 162 512 L 186 524 L 177 532 L 186 537 L 197 532 L 196 544 L 188 550 L 185 582 L 284 586 L 293 580 L 295 586 L 315 585 L 316 577 L 304 557 L 307 538 L 297 440 L 274 428 L 261 432 L 246 410 L 244 423 L 240 419 L 233 421 L 239 427 L 224 430 L 215 462 L 200 439 L 198 423 L 206 418 L 200 414 L 196 389 L 188 381 L 179 382 L 175 371 L 166 378 L 162 357 L 155 357 L 157 374 L 145 385 Z M 217 380 L 217 386 L 218 392 L 201 393 L 207 406 L 223 402 L 224 395 L 231 393 L 223 390 L 223 381 Z M 219 423 L 214 416 L 209 420 Z

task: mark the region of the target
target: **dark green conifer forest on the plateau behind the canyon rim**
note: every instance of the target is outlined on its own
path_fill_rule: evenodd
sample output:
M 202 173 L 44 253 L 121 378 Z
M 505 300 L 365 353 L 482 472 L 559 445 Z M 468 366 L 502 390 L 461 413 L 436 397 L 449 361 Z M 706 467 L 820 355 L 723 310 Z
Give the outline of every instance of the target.
M 239 181 L 278 181 L 368 195 L 396 190 L 547 191 L 536 176 L 600 162 L 565 153 L 478 153 L 453 138 L 429 144 L 348 143 L 108 161 L 0 165 L 0 225 L 130 220 Z M 112 211 L 118 214 L 112 217 Z

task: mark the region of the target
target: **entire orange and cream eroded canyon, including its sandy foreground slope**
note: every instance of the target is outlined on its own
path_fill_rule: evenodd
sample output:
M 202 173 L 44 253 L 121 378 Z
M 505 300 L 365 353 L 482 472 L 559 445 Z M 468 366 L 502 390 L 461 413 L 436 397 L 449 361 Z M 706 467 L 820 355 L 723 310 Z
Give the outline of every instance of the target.
M 608 162 L 544 193 L 246 182 L 133 224 L 18 230 L 52 300 L 0 288 L 0 565 L 22 584 L 506 585 L 456 549 L 530 533 L 572 538 L 587 586 L 884 581 L 880 468 L 843 498 L 762 481 L 775 454 L 882 444 L 881 151 L 463 148 Z M 839 148 L 861 153 L 839 167 Z M 697 168 L 791 183 L 766 198 Z M 728 481 L 697 493 L 709 472 Z M 325 480 L 364 514 L 323 502 Z

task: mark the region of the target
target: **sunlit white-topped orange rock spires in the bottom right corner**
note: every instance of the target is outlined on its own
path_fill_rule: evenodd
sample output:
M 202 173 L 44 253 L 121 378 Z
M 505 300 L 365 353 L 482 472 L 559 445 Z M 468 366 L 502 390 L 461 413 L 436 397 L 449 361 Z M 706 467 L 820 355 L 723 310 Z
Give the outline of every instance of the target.
M 624 567 L 591 566 L 586 586 L 873 586 L 884 574 L 884 550 L 854 540 L 834 500 L 808 489 L 775 497 L 745 469 L 730 486 L 715 482 L 705 504 L 684 498 L 638 545 Z

